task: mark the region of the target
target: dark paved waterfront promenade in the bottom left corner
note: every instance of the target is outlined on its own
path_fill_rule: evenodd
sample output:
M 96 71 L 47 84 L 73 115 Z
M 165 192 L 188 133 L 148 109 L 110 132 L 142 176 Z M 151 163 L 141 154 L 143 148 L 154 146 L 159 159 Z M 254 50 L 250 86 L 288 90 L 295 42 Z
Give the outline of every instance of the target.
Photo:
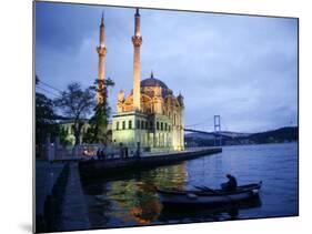
M 89 220 L 78 163 L 37 160 L 36 232 L 85 228 Z

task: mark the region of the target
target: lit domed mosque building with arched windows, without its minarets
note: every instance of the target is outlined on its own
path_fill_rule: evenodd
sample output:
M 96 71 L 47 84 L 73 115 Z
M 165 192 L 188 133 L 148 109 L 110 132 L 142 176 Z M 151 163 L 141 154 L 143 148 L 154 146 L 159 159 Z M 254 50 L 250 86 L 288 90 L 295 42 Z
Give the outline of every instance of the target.
M 118 95 L 118 113 L 112 118 L 112 139 L 151 151 L 184 149 L 183 96 L 173 95 L 162 81 L 153 78 L 140 82 L 140 110 L 133 106 L 133 92 Z

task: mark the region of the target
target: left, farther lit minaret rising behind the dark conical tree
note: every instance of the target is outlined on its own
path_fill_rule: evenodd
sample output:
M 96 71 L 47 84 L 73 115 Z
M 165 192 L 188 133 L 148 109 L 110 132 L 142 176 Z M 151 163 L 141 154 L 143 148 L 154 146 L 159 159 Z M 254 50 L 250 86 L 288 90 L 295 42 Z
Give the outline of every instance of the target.
M 104 14 L 102 12 L 101 24 L 100 24 L 100 44 L 99 44 L 99 47 L 97 47 L 97 51 L 99 54 L 99 64 L 98 64 L 99 92 L 97 94 L 98 104 L 103 103 L 103 100 L 104 100 L 104 96 L 103 96 L 104 77 L 105 77 L 104 61 L 105 61 L 105 54 L 107 54 L 104 38 L 105 38 L 105 27 L 104 27 Z

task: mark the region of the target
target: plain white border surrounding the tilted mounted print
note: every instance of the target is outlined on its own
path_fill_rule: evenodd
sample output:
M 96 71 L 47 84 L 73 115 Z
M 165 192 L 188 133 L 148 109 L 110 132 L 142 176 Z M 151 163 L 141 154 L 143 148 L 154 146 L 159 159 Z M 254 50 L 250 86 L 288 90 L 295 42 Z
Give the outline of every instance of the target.
M 105 233 L 306 233 L 310 230 L 312 165 L 311 43 L 312 10 L 304 0 L 71 0 L 70 2 L 140 6 L 163 9 L 251 13 L 300 18 L 300 216 L 221 223 L 117 228 Z M 1 2 L 1 233 L 31 232 L 32 154 L 32 2 Z M 3 131 L 4 130 L 4 131 Z M 311 144 L 311 143 L 310 143 Z M 89 232 L 76 232 L 91 233 Z

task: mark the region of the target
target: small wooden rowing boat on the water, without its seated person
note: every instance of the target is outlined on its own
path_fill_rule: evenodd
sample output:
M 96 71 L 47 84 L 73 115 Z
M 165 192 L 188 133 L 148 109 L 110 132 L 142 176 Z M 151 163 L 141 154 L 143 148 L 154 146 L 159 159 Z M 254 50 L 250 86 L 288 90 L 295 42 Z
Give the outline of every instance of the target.
M 197 190 L 157 189 L 160 201 L 171 205 L 215 205 L 238 203 L 259 196 L 262 182 L 238 186 L 235 191 L 212 190 L 197 186 Z

